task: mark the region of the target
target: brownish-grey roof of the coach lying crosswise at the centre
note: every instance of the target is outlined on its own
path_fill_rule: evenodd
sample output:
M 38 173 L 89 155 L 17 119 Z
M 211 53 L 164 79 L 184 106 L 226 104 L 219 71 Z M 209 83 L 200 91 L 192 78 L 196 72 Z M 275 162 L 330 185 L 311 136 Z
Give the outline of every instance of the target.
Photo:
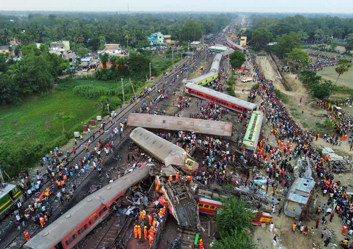
M 141 113 L 130 113 L 127 118 L 127 125 L 147 129 L 154 128 L 175 131 L 187 130 L 198 134 L 210 134 L 222 137 L 232 136 L 233 129 L 232 123 L 229 122 Z

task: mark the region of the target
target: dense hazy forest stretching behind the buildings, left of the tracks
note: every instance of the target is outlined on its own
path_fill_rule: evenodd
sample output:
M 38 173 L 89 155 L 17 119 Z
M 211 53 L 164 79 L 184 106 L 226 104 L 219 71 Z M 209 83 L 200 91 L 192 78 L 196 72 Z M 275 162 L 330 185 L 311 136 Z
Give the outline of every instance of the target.
M 139 48 L 148 46 L 146 36 L 151 33 L 160 31 L 180 41 L 198 40 L 204 33 L 221 31 L 236 17 L 234 13 L 29 14 L 25 18 L 0 15 L 0 43 L 5 45 L 15 38 L 24 45 L 30 41 L 48 45 L 50 41 L 67 39 L 83 43 L 90 50 L 103 49 L 104 43 Z

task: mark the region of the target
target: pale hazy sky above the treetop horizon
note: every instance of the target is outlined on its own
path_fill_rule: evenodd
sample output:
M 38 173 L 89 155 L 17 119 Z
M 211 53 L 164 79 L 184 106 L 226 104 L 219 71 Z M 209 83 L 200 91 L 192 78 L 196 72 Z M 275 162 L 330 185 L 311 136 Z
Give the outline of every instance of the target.
M 3 1 L 2 10 L 21 11 L 246 11 L 353 13 L 352 0 L 16 0 Z

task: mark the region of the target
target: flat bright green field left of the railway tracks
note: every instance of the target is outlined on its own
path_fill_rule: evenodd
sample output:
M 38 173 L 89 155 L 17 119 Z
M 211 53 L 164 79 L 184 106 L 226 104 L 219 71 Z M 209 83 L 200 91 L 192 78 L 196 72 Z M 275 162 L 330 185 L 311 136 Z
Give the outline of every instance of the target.
M 69 79 L 65 85 L 92 84 L 108 88 L 116 83 L 82 79 Z M 76 96 L 72 88 L 53 90 L 47 94 L 26 97 L 19 106 L 0 106 L 0 141 L 9 153 L 21 157 L 24 167 L 38 160 L 55 146 L 63 146 L 74 131 L 95 119 L 101 111 L 96 107 L 99 100 Z M 117 98 L 109 96 L 110 99 Z M 64 131 L 63 132 L 63 126 Z M 8 174 L 16 172 L 15 167 L 6 168 Z M 17 168 L 18 170 L 18 168 Z

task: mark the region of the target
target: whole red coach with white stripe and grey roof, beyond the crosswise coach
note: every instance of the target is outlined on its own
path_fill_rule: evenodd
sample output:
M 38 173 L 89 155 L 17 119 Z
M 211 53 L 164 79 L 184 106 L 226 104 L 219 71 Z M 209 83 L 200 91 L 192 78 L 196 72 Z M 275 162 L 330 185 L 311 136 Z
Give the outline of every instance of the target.
M 254 103 L 250 103 L 245 100 L 241 100 L 240 98 L 236 98 L 193 83 L 187 83 L 185 85 L 185 92 L 207 101 L 217 102 L 221 106 L 236 111 L 237 113 L 246 114 L 257 109 L 257 105 Z

